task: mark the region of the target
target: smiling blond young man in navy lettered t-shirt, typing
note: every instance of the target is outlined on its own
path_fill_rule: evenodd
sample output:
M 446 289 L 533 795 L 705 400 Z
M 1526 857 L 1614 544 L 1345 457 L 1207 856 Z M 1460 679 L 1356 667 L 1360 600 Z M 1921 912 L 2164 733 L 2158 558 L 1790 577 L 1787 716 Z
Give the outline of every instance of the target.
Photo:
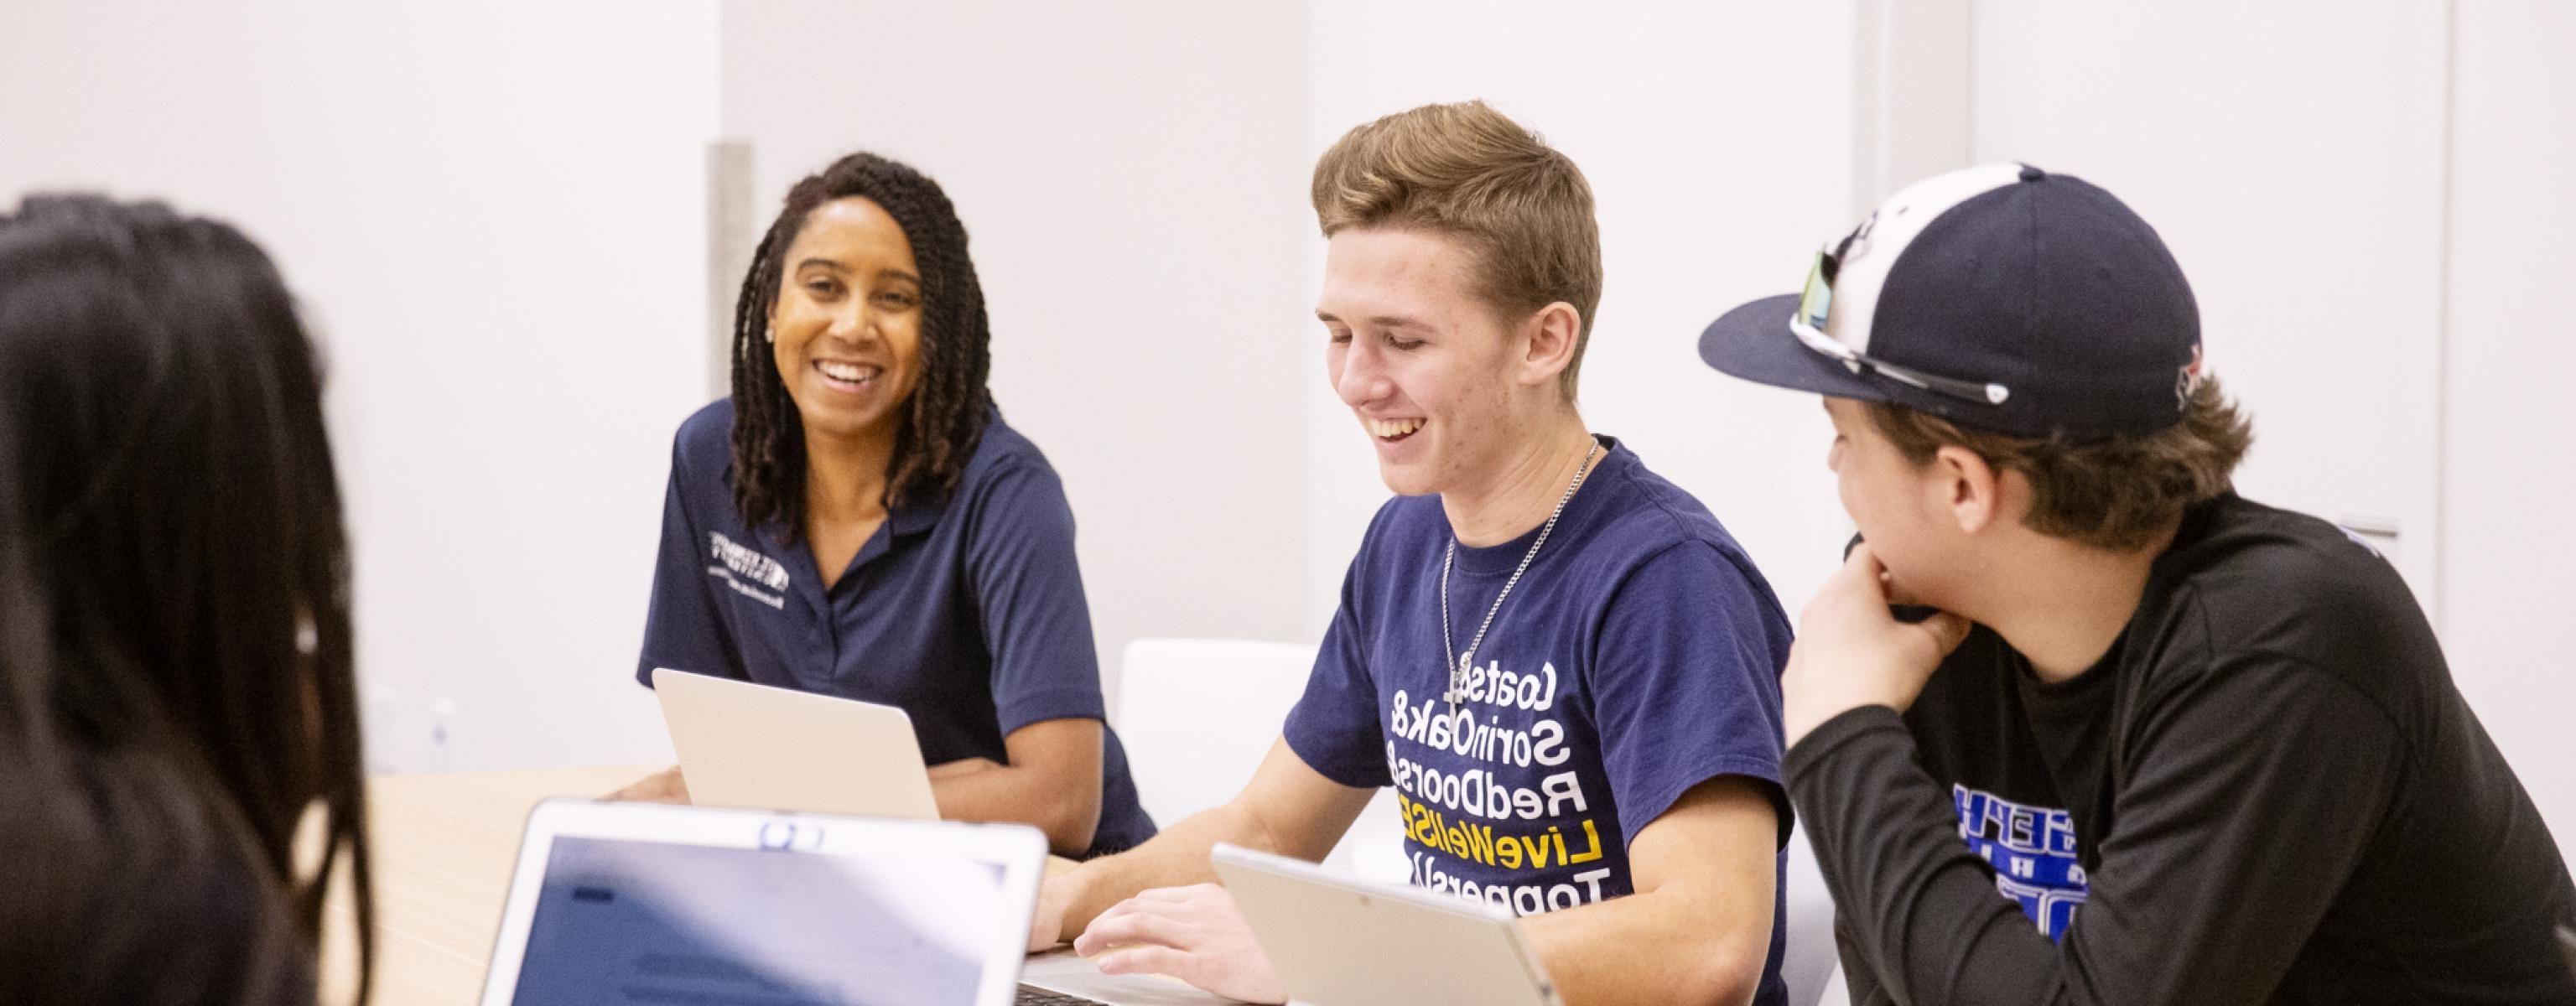
M 1342 136 L 1314 206 L 1327 370 L 1396 497 L 1244 792 L 1051 880 L 1033 947 L 1280 1001 L 1208 846 L 1321 859 L 1391 785 L 1412 883 L 1525 916 L 1569 1003 L 1783 1001 L 1788 617 L 1574 407 L 1589 185 L 1484 103 L 1427 105 Z

